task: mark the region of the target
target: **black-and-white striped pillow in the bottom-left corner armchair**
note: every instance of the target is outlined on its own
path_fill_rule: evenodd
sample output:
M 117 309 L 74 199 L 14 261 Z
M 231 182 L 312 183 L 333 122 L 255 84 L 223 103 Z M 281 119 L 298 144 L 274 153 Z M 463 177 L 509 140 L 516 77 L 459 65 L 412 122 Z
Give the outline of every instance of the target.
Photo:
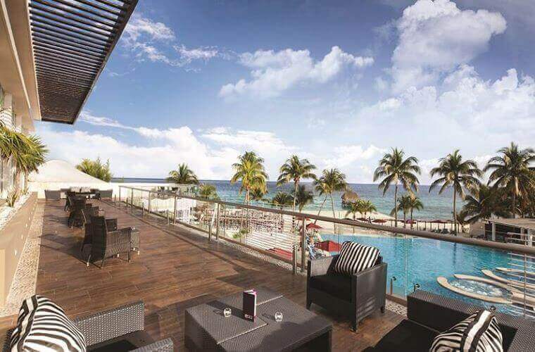
M 86 351 L 82 332 L 63 309 L 42 296 L 32 296 L 23 302 L 9 348 L 11 352 Z

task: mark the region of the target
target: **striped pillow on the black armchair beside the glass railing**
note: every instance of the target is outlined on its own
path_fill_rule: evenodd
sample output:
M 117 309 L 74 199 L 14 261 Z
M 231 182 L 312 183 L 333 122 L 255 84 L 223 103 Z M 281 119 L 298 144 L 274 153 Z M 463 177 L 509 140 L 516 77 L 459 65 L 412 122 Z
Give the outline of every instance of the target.
M 379 257 L 379 249 L 365 246 L 356 242 L 344 242 L 340 249 L 340 256 L 334 263 L 334 271 L 341 274 L 353 275 L 368 268 L 372 268 Z

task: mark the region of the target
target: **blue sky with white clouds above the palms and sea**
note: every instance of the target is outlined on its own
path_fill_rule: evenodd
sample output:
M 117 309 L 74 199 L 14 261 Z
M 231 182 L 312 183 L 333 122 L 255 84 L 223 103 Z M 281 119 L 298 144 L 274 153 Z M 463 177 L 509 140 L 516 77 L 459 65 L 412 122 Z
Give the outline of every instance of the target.
M 398 147 L 429 184 L 455 149 L 534 146 L 534 37 L 524 0 L 141 0 L 75 125 L 36 133 L 115 177 L 229 180 L 252 150 L 270 180 L 296 154 L 372 183 Z

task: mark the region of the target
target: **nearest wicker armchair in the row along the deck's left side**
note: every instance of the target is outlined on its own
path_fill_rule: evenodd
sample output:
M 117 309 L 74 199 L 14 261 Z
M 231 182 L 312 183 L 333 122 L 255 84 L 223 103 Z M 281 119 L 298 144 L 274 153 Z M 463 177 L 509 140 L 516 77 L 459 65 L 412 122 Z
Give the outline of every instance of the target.
M 113 221 L 110 223 L 113 224 Z M 126 227 L 117 230 L 116 226 L 112 231 L 108 229 L 106 219 L 103 216 L 93 216 L 91 218 L 92 246 L 86 266 L 89 266 L 92 260 L 102 260 L 100 267 L 103 268 L 106 258 L 119 256 L 120 253 L 127 253 L 128 261 L 130 262 L 132 228 Z

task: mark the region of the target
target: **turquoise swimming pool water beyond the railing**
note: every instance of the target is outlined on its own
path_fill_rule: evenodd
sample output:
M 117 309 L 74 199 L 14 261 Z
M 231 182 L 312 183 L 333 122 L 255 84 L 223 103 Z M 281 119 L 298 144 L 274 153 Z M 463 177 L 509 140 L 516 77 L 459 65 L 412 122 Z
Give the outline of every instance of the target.
M 448 296 L 479 306 L 490 306 L 491 303 L 468 298 L 443 288 L 436 277 L 443 276 L 455 285 L 465 289 L 481 290 L 485 285 L 474 282 L 460 282 L 453 274 L 465 274 L 484 277 L 482 269 L 493 270 L 497 267 L 509 267 L 510 257 L 507 252 L 488 249 L 467 244 L 455 244 L 446 241 L 423 238 L 377 237 L 365 234 L 332 235 L 322 234 L 323 240 L 342 243 L 354 241 L 360 244 L 375 246 L 381 251 L 381 256 L 388 263 L 386 290 L 390 291 L 391 277 L 396 277 L 394 294 L 406 296 L 413 291 L 415 284 L 420 289 L 431 291 L 442 296 Z M 488 290 L 489 294 L 496 294 Z M 510 307 L 493 304 L 498 310 L 512 313 Z

